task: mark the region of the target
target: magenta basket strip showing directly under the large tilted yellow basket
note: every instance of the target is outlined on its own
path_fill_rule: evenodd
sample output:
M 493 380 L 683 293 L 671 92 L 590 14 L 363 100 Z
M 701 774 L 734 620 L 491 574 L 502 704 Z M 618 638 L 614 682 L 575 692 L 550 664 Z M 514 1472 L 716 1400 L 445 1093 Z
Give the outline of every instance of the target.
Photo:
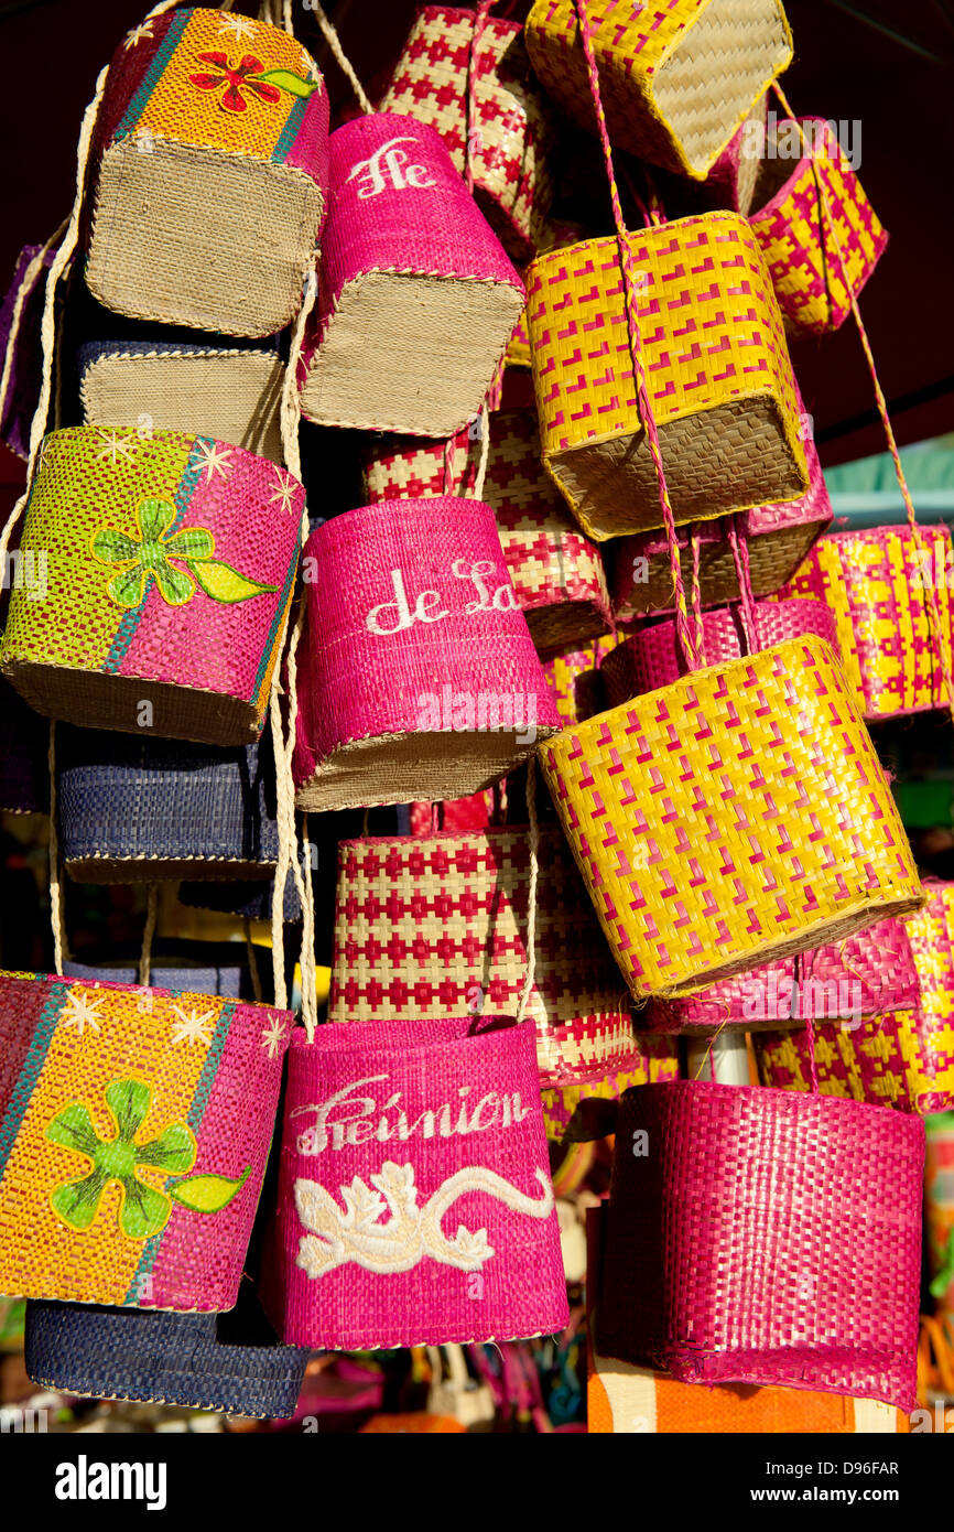
M 919 996 L 908 922 L 890 919 L 684 999 L 649 1000 L 637 1022 L 652 1033 L 804 1028 L 825 1019 L 858 1028 L 862 1017 L 916 1007 Z

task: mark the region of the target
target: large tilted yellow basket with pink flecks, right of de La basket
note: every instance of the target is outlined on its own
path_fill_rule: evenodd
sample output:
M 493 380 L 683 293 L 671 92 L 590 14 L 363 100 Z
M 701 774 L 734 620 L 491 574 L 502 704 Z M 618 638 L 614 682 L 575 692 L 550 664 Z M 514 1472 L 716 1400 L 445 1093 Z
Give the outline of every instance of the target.
M 564 729 L 539 758 L 637 999 L 838 942 L 923 901 L 822 639 L 694 671 Z

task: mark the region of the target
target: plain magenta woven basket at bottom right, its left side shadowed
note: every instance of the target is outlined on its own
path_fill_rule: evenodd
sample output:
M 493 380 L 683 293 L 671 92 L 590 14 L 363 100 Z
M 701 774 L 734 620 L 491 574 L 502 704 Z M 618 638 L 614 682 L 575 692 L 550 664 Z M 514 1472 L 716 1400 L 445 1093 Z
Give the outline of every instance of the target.
M 620 1103 L 597 1347 L 691 1383 L 917 1403 L 919 1118 L 689 1080 Z

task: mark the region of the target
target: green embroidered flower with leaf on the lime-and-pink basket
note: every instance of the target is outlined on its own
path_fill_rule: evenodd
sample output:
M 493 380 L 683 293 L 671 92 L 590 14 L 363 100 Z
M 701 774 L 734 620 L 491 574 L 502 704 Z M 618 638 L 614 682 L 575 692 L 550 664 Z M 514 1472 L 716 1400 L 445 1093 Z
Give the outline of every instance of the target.
M 191 601 L 196 584 L 219 602 L 248 601 L 279 588 L 247 579 L 231 564 L 213 558 L 216 539 L 205 527 L 182 527 L 170 535 L 175 519 L 176 507 L 172 501 L 141 499 L 136 506 L 138 538 L 115 527 L 101 527 L 93 533 L 93 556 L 103 564 L 124 565 L 107 587 L 118 607 L 138 607 L 153 581 L 170 607 L 184 607 Z M 176 568 L 172 559 L 185 564 L 191 578 Z

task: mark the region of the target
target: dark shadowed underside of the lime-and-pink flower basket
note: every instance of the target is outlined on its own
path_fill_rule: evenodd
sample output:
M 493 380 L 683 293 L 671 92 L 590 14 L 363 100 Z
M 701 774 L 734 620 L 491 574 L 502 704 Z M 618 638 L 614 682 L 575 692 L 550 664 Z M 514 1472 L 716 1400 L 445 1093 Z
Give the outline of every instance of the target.
M 17 659 L 5 662 L 3 674 L 35 712 L 84 729 L 149 729 L 158 738 L 196 745 L 254 745 L 262 732 L 263 714 L 225 692 Z M 139 722 L 145 702 L 152 705 L 150 725 Z

